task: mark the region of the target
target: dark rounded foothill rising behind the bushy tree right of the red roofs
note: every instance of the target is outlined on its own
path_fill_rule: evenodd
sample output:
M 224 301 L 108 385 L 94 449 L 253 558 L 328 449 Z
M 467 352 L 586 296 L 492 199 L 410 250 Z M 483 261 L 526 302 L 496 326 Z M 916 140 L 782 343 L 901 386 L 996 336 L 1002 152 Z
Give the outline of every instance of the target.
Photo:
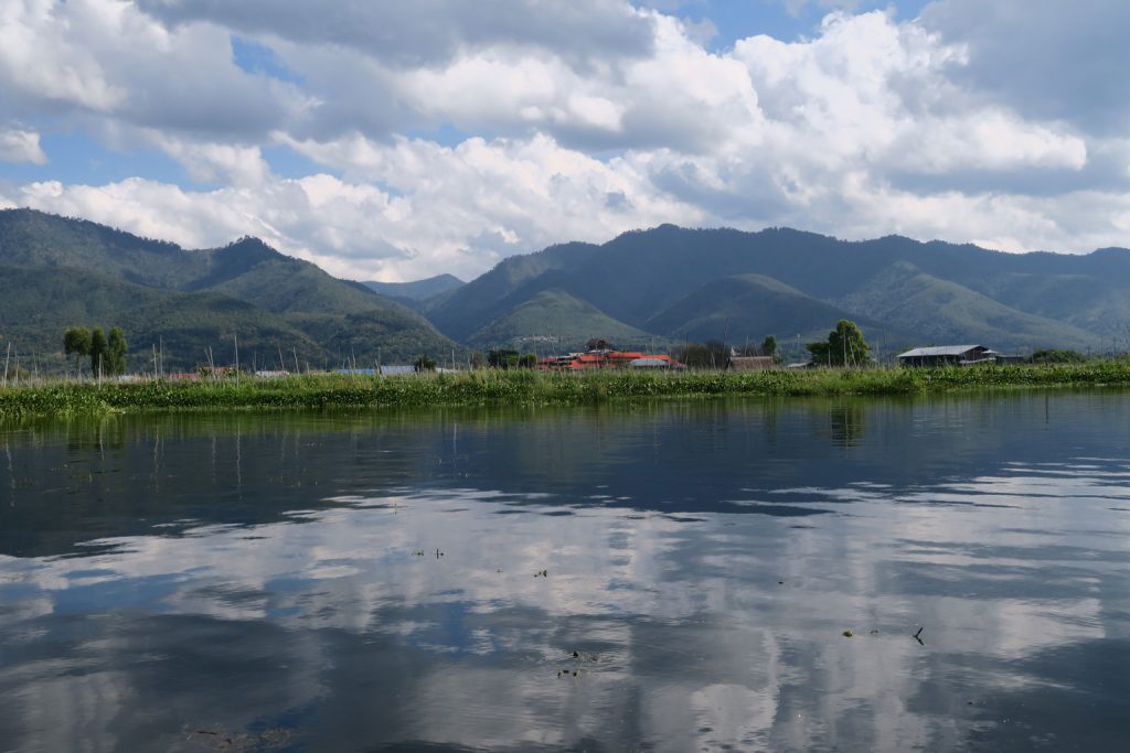
M 782 344 L 827 338 L 836 322 L 854 319 L 873 342 L 883 325 L 859 317 L 790 286 L 759 274 L 740 274 L 709 282 L 647 319 L 645 329 L 676 340 L 722 340 L 759 344 L 775 335 Z

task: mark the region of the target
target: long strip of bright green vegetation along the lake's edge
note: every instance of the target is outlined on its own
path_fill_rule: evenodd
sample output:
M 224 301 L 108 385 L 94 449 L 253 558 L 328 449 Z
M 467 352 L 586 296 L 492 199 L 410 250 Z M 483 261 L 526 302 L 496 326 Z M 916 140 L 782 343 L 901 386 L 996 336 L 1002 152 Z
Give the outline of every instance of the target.
M 945 369 L 692 371 L 473 371 L 375 379 L 344 375 L 139 384 L 44 383 L 0 388 L 0 420 L 166 410 L 320 409 L 476 404 L 594 404 L 710 395 L 907 395 L 1059 386 L 1130 386 L 1130 364 Z

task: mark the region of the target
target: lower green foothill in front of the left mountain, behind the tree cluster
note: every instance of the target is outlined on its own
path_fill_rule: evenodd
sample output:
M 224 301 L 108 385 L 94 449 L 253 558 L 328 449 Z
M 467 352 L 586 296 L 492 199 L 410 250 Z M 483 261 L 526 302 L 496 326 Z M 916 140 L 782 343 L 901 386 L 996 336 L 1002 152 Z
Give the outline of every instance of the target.
M 169 370 L 192 368 L 212 348 L 217 362 L 234 359 L 234 335 L 251 364 L 255 350 L 297 349 L 321 358 L 321 349 L 282 318 L 215 292 L 175 292 L 94 275 L 82 270 L 0 266 L 0 340 L 37 353 L 44 367 L 62 360 L 70 326 L 122 326 L 131 368 L 151 368 L 151 345 L 164 342 Z M 44 305 L 51 301 L 51 305 Z

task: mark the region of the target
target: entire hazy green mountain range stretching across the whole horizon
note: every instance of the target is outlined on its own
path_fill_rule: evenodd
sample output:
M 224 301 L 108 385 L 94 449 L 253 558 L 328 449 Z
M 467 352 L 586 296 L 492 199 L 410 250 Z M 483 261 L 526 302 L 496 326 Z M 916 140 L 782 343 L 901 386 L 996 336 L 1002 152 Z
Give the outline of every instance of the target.
M 121 325 L 131 367 L 155 345 L 190 368 L 235 356 L 277 368 L 462 362 L 468 349 L 575 350 L 686 341 L 785 352 L 855 321 L 883 356 L 924 344 L 1023 352 L 1130 345 L 1130 251 L 1006 254 L 888 236 L 845 242 L 786 228 L 757 233 L 663 225 L 605 244 L 513 256 L 463 283 L 354 282 L 257 238 L 189 251 L 87 220 L 0 211 L 0 344 L 63 364 L 72 325 Z M 25 360 L 26 362 L 26 360 Z

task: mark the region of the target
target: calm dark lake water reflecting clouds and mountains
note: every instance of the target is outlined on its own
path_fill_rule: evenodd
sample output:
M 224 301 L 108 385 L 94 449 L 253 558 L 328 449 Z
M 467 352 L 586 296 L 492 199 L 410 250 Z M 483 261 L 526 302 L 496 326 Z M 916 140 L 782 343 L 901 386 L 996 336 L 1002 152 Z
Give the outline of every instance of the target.
M 1093 392 L 0 430 L 0 751 L 1119 750 L 1128 419 Z

